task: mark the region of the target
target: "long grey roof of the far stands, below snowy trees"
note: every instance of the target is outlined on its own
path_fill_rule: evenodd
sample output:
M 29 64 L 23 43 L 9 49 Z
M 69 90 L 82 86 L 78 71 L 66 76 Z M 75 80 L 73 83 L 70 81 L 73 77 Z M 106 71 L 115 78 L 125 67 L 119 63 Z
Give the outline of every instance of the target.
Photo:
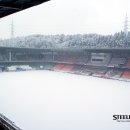
M 94 53 L 117 53 L 130 52 L 130 48 L 23 48 L 23 47 L 2 47 L 0 51 L 32 51 L 32 52 L 94 52 Z

